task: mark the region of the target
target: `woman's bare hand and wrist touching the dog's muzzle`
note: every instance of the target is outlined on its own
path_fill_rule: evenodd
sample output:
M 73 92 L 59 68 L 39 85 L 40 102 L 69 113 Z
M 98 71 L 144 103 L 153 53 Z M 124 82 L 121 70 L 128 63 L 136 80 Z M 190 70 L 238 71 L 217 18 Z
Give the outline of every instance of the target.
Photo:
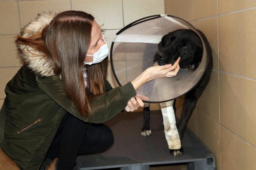
M 149 80 L 153 80 L 159 77 L 173 77 L 176 76 L 180 70 L 179 66 L 180 57 L 173 64 L 166 64 L 164 66 L 153 66 L 147 68 L 143 73 L 141 73 L 136 79 L 131 81 L 135 90 L 140 88 Z

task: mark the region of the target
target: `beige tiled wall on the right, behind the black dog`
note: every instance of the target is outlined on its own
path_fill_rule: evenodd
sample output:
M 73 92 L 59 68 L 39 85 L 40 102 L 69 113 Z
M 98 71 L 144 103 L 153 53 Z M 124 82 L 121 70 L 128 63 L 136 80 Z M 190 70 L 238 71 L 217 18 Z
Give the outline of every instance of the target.
M 165 0 L 165 13 L 194 21 L 212 49 L 211 79 L 188 127 L 217 169 L 256 169 L 256 1 Z

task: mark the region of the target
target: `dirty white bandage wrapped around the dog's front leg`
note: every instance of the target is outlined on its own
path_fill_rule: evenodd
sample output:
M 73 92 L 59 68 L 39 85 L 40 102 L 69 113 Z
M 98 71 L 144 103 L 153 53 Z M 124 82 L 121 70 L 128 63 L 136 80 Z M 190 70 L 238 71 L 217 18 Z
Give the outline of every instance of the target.
M 160 103 L 163 120 L 164 120 L 164 134 L 168 144 L 169 149 L 180 149 L 181 148 L 181 140 L 179 136 L 179 132 L 176 127 L 175 114 L 173 110 L 173 102 L 168 101 L 164 103 Z

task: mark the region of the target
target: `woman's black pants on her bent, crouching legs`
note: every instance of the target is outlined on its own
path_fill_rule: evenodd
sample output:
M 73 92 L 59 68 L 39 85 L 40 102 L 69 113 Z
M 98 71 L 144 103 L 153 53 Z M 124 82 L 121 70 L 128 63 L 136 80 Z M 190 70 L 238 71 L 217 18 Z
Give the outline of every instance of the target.
M 57 169 L 70 170 L 77 155 L 100 153 L 112 146 L 114 137 L 104 124 L 83 122 L 66 113 L 55 134 L 46 158 L 59 158 Z

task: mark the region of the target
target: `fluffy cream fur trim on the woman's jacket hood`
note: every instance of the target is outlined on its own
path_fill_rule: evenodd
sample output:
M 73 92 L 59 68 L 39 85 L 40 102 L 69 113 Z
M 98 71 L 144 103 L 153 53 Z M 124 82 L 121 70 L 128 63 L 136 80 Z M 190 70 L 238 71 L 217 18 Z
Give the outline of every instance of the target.
M 22 28 L 20 35 L 27 38 L 42 32 L 43 28 L 47 26 L 56 15 L 56 13 L 51 11 L 39 13 L 33 21 Z M 29 68 L 40 76 L 48 77 L 54 75 L 52 64 L 48 57 L 45 57 L 44 54 L 30 46 L 18 43 L 16 46 L 24 63 L 27 64 Z

